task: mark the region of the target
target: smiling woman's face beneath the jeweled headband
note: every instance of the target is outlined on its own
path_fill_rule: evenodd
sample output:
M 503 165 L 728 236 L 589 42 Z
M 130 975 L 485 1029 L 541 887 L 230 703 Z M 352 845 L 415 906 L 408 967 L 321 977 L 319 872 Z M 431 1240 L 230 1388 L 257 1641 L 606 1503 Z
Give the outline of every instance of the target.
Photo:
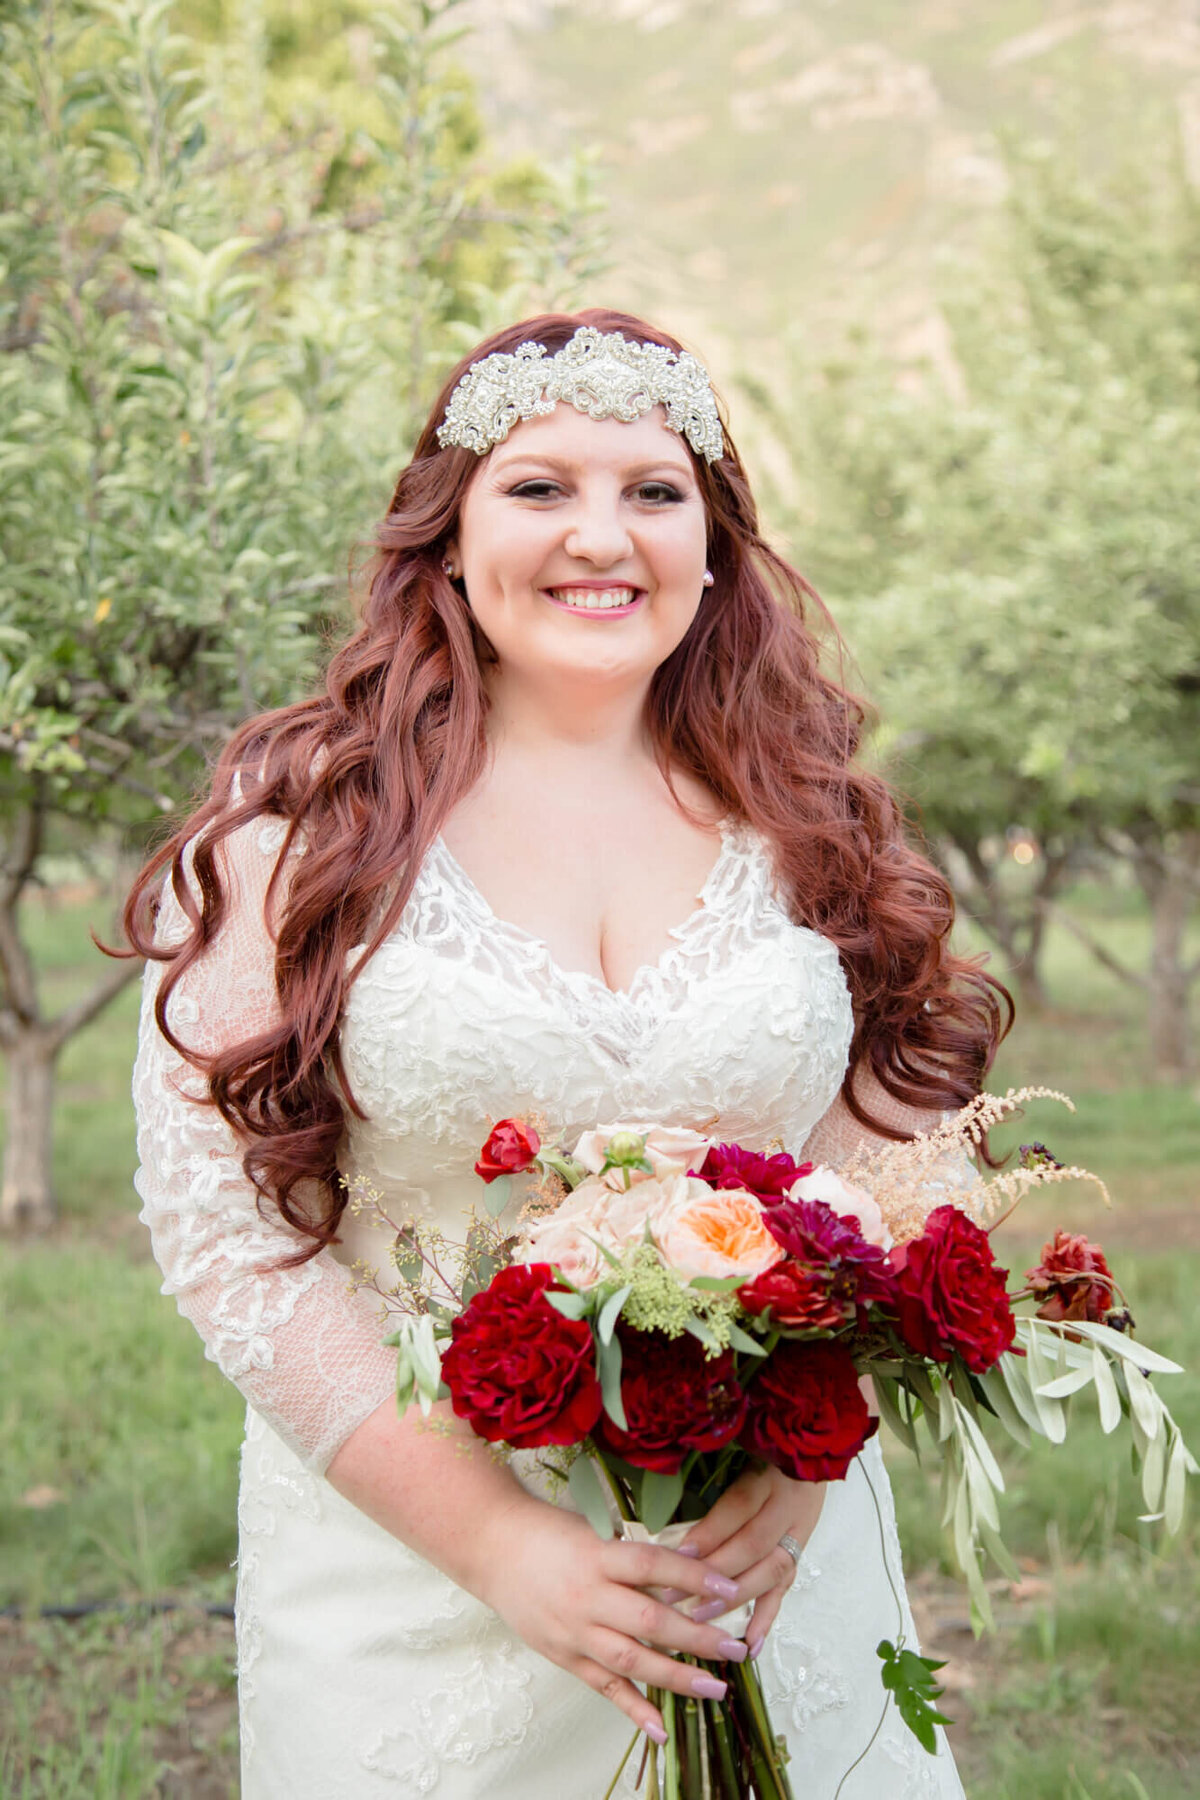
M 450 556 L 500 679 L 631 688 L 687 632 L 705 544 L 691 455 L 658 407 L 626 425 L 560 403 L 482 461 Z

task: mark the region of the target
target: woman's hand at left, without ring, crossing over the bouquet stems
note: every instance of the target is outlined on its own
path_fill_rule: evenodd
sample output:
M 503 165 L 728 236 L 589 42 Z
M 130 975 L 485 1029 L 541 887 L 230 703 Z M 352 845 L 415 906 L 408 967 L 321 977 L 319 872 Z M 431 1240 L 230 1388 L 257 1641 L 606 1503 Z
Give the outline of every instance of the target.
M 491 1521 L 486 1562 L 471 1586 L 525 1643 L 587 1681 L 660 1744 L 662 1715 L 633 1683 L 721 1699 L 725 1683 L 712 1670 L 673 1661 L 667 1652 L 703 1661 L 741 1661 L 747 1654 L 747 1645 L 720 1625 L 687 1618 L 646 1591 L 700 1595 L 727 1611 L 738 1588 L 716 1562 L 658 1544 L 604 1543 L 579 1514 L 533 1498 Z

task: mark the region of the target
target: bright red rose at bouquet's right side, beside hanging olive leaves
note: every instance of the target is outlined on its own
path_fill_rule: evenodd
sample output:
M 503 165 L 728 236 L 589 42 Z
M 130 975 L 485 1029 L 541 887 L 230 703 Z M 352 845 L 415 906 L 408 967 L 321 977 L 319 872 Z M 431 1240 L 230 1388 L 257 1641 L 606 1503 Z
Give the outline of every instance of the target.
M 961 1355 L 982 1375 L 1013 1348 L 1016 1327 L 1004 1292 L 1007 1269 L 991 1240 L 957 1206 L 937 1206 L 925 1231 L 892 1251 L 900 1336 L 916 1355 Z

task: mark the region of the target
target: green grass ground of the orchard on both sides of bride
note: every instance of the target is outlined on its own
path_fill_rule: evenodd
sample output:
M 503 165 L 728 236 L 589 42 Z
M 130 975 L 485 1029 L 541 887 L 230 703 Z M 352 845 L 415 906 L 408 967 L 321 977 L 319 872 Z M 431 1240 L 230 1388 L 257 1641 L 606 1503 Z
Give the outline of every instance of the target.
M 1110 947 L 1144 954 L 1133 907 L 1083 895 Z M 86 974 L 86 909 L 34 920 L 50 986 Z M 1049 1226 L 1087 1222 L 1112 1249 L 1148 1341 L 1200 1368 L 1200 1107 L 1142 1073 L 1130 995 L 1069 940 L 1051 945 L 1052 1015 L 1024 1021 L 993 1087 L 1069 1089 L 1013 1136 L 1101 1174 L 1038 1197 L 997 1238 L 1015 1269 Z M 65 1058 L 61 1224 L 0 1249 L 0 1795 L 5 1800 L 227 1800 L 237 1791 L 232 1559 L 237 1393 L 158 1296 L 130 1186 L 137 997 Z M 1169 1402 L 1200 1444 L 1200 1384 Z M 972 1800 L 1184 1800 L 1200 1791 L 1200 1555 L 1137 1523 L 1128 1469 L 1090 1422 L 1067 1453 L 1004 1458 L 1007 1537 L 1024 1579 L 999 1582 L 999 1629 L 975 1642 L 927 1480 L 891 1454 L 914 1604 L 948 1658 L 946 1708 Z M 31 1618 L 121 1600 L 126 1611 Z M 173 1602 L 149 1611 L 142 1602 Z M 133 1609 L 128 1609 L 133 1602 Z M 813 1796 L 820 1800 L 820 1796 Z M 889 1800 L 889 1796 L 882 1796 Z

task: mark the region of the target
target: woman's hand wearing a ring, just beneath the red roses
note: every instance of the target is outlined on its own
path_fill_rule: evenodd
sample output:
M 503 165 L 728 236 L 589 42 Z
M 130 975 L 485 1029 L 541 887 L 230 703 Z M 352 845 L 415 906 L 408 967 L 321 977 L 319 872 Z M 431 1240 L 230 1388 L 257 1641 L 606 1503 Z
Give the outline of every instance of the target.
M 707 1568 L 736 1580 L 739 1602 L 756 1602 L 747 1625 L 750 1656 L 763 1649 L 795 1579 L 792 1553 L 779 1539 L 795 1537 L 801 1546 L 806 1544 L 824 1498 L 824 1481 L 793 1481 L 770 1463 L 757 1463 L 739 1474 L 687 1534 L 685 1548 L 694 1550 Z M 693 1613 L 693 1618 L 712 1616 L 709 1607 Z

